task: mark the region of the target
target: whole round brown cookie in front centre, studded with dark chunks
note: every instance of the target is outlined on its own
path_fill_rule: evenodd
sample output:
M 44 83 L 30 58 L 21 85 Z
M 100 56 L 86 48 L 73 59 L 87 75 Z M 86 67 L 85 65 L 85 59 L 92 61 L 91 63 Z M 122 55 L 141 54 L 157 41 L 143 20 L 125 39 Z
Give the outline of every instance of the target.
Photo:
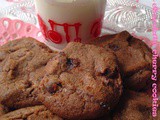
M 39 100 L 66 119 L 96 119 L 109 113 L 122 93 L 111 51 L 71 42 L 46 65 Z

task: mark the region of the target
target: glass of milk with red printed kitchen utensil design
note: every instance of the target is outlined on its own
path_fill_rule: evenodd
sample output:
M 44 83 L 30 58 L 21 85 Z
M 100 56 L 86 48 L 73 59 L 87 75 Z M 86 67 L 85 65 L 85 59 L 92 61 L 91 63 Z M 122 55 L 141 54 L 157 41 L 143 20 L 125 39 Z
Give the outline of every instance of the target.
M 101 33 L 106 0 L 35 0 L 46 43 L 62 50 L 67 43 L 87 43 Z

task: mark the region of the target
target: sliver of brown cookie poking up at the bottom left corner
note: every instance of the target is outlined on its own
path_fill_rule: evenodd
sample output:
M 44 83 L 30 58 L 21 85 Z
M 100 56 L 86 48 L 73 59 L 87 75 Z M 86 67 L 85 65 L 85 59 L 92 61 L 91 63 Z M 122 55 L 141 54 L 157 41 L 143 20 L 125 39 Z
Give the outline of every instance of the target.
M 63 120 L 52 114 L 46 107 L 34 106 L 12 111 L 0 117 L 0 120 Z

